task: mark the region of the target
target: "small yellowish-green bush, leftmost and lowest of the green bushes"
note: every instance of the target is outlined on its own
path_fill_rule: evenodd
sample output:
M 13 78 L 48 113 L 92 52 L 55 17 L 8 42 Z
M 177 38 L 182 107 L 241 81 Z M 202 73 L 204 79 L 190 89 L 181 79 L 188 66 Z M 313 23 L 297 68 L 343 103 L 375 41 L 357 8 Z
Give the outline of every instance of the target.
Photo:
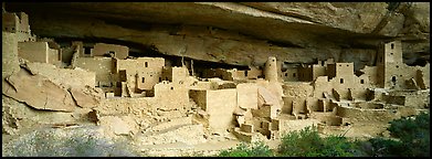
M 273 152 L 268 146 L 261 141 L 253 144 L 241 142 L 235 148 L 222 150 L 219 157 L 272 157 Z

